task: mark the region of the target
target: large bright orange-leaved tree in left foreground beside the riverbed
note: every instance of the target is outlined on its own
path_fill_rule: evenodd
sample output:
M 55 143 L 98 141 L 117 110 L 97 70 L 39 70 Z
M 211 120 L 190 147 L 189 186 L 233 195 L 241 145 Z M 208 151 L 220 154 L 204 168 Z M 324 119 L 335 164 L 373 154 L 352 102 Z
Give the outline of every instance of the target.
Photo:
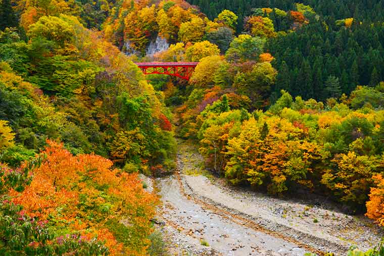
M 31 184 L 23 192 L 11 191 L 13 202 L 47 225 L 56 220 L 57 228 L 98 237 L 112 255 L 146 255 L 158 199 L 143 190 L 137 174 L 113 170 L 112 161 L 103 157 L 73 156 L 61 143 L 47 144 Z

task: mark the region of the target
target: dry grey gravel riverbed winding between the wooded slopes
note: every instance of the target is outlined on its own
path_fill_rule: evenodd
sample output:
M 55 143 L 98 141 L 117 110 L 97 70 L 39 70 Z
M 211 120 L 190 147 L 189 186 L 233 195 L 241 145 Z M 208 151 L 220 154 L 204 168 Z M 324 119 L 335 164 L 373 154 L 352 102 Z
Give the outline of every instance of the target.
M 366 218 L 238 189 L 203 170 L 195 147 L 179 141 L 178 173 L 150 180 L 162 196 L 157 217 L 171 255 L 304 255 L 352 244 L 374 246 L 382 233 Z M 206 174 L 206 175 L 204 175 Z

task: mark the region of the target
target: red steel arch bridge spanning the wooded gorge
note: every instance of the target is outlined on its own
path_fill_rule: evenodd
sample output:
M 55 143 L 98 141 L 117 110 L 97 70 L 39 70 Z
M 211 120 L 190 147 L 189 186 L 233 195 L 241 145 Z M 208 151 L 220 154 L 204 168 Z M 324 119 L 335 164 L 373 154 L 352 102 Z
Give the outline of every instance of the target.
M 198 62 L 139 62 L 135 63 L 144 74 L 165 74 L 189 80 Z

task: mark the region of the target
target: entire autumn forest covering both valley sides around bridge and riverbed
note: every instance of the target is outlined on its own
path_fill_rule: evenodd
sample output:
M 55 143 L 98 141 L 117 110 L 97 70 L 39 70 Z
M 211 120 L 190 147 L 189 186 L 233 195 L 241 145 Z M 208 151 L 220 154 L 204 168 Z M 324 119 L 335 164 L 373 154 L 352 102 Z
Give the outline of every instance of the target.
M 0 0 L 1 255 L 166 255 L 138 173 L 173 173 L 175 137 L 384 226 L 384 2 L 188 2 Z

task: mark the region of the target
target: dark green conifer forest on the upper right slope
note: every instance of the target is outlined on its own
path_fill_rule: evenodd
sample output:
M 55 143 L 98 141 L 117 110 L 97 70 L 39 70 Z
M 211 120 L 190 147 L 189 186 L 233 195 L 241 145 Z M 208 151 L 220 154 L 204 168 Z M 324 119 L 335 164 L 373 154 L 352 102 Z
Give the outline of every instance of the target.
M 280 10 L 304 14 L 309 25 L 296 33 L 270 40 L 266 48 L 276 57 L 273 66 L 280 71 L 275 95 L 280 89 L 304 98 L 324 100 L 324 84 L 338 79 L 341 93 L 350 93 L 352 84 L 375 85 L 383 80 L 382 1 L 305 1 L 306 9 L 295 1 L 191 1 L 208 17 L 229 9 L 238 15 L 237 33 L 243 31 L 247 17 L 260 15 L 272 20 L 276 31 L 288 29 Z M 260 8 L 272 8 L 261 10 Z M 286 19 L 292 19 L 288 13 Z M 284 18 L 283 18 L 284 19 Z M 328 82 L 328 83 L 326 83 Z M 348 88 L 348 86 L 352 86 Z

